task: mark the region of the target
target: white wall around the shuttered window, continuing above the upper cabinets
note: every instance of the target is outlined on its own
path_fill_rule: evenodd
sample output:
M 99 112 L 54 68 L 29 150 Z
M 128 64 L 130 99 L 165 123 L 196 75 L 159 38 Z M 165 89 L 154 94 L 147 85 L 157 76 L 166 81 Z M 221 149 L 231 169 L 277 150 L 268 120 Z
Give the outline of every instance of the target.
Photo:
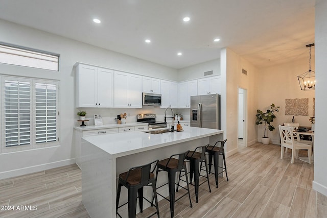
M 60 54 L 59 72 L 0 64 L 0 74 L 59 80 L 61 121 L 61 143 L 59 147 L 0 154 L 0 179 L 75 163 L 75 148 L 72 146 L 72 142 L 73 127 L 77 125 L 76 119 L 78 118 L 76 115 L 78 110 L 74 105 L 73 65 L 76 62 L 89 63 L 161 79 L 177 80 L 176 69 L 16 25 L 5 20 L 0 20 L 0 30 L 0 41 L 2 42 Z M 118 112 L 126 112 L 130 114 L 129 118 L 131 118 L 138 113 L 136 109 L 86 110 L 88 115 L 102 113 L 105 117 L 118 114 Z M 164 109 L 158 110 L 161 112 Z

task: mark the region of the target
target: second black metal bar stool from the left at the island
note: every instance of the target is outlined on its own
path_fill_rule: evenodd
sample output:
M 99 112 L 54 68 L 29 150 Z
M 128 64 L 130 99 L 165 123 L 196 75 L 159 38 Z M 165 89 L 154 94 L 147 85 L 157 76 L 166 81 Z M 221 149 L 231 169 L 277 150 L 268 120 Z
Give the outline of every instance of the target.
M 186 163 L 184 161 L 185 157 L 186 157 L 186 155 L 188 153 L 189 153 L 189 151 L 186 151 L 185 153 L 174 154 L 174 155 L 170 156 L 170 158 L 160 160 L 158 162 L 156 178 L 158 176 L 158 172 L 164 172 L 165 171 L 165 172 L 168 173 L 168 183 L 157 187 L 157 189 L 168 184 L 168 186 L 169 186 L 169 199 L 167 199 L 166 197 L 160 195 L 160 193 L 157 193 L 157 194 L 170 202 L 170 215 L 171 215 L 172 218 L 174 217 L 175 202 L 178 201 L 179 199 L 181 199 L 182 197 L 184 197 L 185 195 L 189 194 L 190 206 L 192 207 L 189 183 L 186 182 L 186 185 L 187 185 L 188 188 L 184 188 L 183 186 L 180 186 L 179 183 L 178 184 L 176 183 L 176 173 L 177 172 L 179 172 L 179 175 L 182 172 L 184 172 L 185 175 L 188 174 L 188 172 L 186 170 Z M 175 156 L 178 156 L 178 159 L 173 158 Z M 186 176 L 186 181 L 188 181 L 187 176 Z M 184 195 L 180 196 L 176 200 L 175 200 L 175 185 L 177 185 L 176 191 L 178 191 L 178 186 L 182 187 L 185 190 L 188 190 L 187 193 L 184 193 Z M 152 199 L 152 202 L 153 202 L 153 199 Z

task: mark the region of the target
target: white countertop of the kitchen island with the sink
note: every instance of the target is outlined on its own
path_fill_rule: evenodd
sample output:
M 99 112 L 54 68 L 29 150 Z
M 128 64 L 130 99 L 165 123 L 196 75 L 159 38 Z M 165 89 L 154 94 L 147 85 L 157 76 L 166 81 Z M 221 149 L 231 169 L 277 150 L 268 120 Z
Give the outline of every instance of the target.
M 88 136 L 83 137 L 83 139 L 114 157 L 122 157 L 224 132 L 223 130 L 197 127 L 183 127 L 183 130 L 183 132 L 168 132 L 163 134 L 150 134 L 140 131 L 124 132 Z

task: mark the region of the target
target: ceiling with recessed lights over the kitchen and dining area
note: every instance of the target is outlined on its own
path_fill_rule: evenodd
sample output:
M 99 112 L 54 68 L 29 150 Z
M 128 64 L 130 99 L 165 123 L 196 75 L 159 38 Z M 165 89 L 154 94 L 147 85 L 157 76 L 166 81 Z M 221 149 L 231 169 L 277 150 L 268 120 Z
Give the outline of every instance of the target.
M 283 64 L 307 58 L 306 44 L 314 42 L 315 0 L 0 0 L 0 5 L 1 19 L 176 69 L 217 59 L 223 47 L 257 67 Z M 191 18 L 187 23 L 185 16 Z

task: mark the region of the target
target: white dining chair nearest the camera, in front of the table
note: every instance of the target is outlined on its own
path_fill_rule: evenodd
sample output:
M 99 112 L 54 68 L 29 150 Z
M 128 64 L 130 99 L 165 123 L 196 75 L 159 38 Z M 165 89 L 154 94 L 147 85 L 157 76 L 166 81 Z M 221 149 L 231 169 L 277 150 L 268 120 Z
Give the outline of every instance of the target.
M 303 142 L 294 140 L 294 127 L 285 127 L 279 125 L 279 135 L 281 136 L 281 159 L 284 158 L 284 148 L 292 149 L 291 163 L 294 163 L 294 158 L 298 158 L 298 150 L 308 150 L 309 163 L 311 164 L 312 146 Z

